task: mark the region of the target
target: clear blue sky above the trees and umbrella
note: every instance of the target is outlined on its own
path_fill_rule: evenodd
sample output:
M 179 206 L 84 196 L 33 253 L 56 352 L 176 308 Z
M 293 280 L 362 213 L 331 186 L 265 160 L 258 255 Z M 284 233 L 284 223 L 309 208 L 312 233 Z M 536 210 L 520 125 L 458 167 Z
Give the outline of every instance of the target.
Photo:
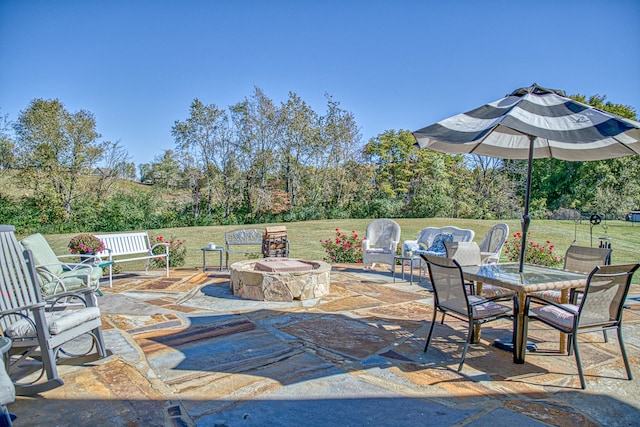
M 328 93 L 366 142 L 534 82 L 640 113 L 640 1 L 0 0 L 0 115 L 58 98 L 136 164 L 196 97 Z

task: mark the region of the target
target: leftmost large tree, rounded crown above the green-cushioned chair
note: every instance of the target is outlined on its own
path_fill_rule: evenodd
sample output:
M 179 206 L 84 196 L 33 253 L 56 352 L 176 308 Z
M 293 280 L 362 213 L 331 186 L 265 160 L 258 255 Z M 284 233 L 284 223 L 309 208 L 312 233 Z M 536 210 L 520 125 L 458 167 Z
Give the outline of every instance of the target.
M 93 114 L 70 113 L 58 99 L 34 99 L 14 129 L 23 181 L 69 216 L 82 178 L 103 152 Z

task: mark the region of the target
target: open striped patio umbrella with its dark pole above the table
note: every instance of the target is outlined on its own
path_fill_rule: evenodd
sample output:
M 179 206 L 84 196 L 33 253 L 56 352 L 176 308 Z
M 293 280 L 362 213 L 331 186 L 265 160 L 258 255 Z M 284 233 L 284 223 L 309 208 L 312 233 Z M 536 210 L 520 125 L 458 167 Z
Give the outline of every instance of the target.
M 520 271 L 529 230 L 533 159 L 603 160 L 640 154 L 640 123 L 533 84 L 413 132 L 416 145 L 449 154 L 528 159 Z

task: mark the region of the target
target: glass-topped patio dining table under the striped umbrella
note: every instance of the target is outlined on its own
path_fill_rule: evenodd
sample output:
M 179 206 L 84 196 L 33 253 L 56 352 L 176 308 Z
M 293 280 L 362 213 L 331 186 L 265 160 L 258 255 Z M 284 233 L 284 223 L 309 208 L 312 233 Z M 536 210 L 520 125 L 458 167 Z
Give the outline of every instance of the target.
M 515 331 L 515 342 L 513 343 L 514 363 L 524 363 L 527 352 L 527 316 L 524 312 L 527 294 L 557 289 L 562 291 L 561 302 L 568 302 L 569 289 L 584 287 L 587 283 L 586 274 L 532 264 L 525 264 L 523 271 L 519 272 L 519 267 L 518 263 L 462 267 L 464 278 L 477 283 L 478 294 L 482 291 L 483 283 L 501 286 L 516 292 L 518 307 L 513 320 Z M 564 351 L 564 339 L 560 339 L 560 345 L 560 351 Z

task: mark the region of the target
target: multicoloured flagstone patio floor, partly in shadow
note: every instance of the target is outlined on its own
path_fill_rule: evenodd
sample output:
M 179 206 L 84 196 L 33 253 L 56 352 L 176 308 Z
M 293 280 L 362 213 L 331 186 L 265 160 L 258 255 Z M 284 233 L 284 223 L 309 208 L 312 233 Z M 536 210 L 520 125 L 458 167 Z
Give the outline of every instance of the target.
M 530 324 L 538 351 L 524 365 L 492 346 L 510 323 L 482 330 L 457 372 L 465 325 L 447 318 L 423 347 L 428 282 L 335 266 L 321 299 L 241 300 L 224 273 L 172 271 L 103 285 L 112 356 L 60 366 L 65 385 L 9 409 L 16 426 L 630 426 L 639 382 L 626 379 L 615 334 L 581 338 L 588 388 L 559 335 Z M 640 376 L 640 298 L 624 337 Z

